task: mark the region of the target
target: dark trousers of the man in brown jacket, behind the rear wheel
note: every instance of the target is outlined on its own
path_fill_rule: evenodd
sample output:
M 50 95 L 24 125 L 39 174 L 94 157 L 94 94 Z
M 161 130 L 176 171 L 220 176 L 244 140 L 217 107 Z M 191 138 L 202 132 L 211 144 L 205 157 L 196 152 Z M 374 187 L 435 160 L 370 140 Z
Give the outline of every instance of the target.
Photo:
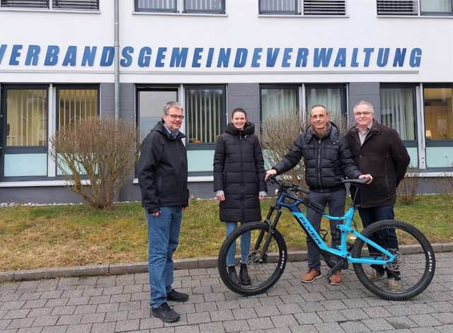
M 359 214 L 360 218 L 362 218 L 363 228 L 366 228 L 370 224 L 377 221 L 393 220 L 395 218 L 393 204 L 369 208 L 359 208 Z M 379 233 L 374 233 L 370 239 L 388 250 L 398 250 L 398 238 L 396 238 L 394 228 L 386 228 L 382 231 L 379 231 Z M 381 252 L 377 251 L 374 247 L 371 246 L 369 246 L 369 254 L 378 256 L 382 255 Z M 380 273 L 384 272 L 384 267 L 382 267 L 381 265 L 371 266 Z M 389 269 L 385 270 L 387 271 L 388 277 L 396 278 L 399 276 L 397 271 L 390 271 Z

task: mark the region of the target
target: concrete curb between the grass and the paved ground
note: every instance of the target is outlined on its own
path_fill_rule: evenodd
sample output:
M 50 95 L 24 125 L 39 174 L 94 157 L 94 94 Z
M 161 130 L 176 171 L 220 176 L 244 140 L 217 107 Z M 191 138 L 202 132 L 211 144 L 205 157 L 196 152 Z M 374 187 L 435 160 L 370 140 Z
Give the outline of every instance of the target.
M 434 252 L 453 252 L 453 243 L 431 244 Z M 413 245 L 404 245 L 401 252 L 407 254 L 418 253 Z M 289 262 L 302 262 L 306 260 L 306 251 L 288 252 Z M 198 257 L 189 259 L 176 259 L 174 269 L 198 269 L 217 267 L 217 257 Z M 100 264 L 76 267 L 57 267 L 46 269 L 31 269 L 26 271 L 0 271 L 0 283 L 13 281 L 30 281 L 40 279 L 55 279 L 69 276 L 97 276 L 147 273 L 148 262 L 132 262 L 127 264 Z

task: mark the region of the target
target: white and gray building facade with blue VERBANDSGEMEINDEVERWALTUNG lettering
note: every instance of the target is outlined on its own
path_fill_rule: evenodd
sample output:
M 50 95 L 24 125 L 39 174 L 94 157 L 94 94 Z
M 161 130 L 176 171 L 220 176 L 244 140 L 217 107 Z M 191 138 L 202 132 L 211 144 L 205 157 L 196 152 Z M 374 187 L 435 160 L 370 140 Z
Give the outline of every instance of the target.
M 231 110 L 251 122 L 359 100 L 423 177 L 452 172 L 451 0 L 120 0 L 119 116 L 143 134 L 185 108 L 189 182 L 213 197 Z M 50 157 L 59 127 L 115 116 L 113 0 L 0 0 L 0 201 L 78 201 Z M 120 199 L 139 199 L 134 175 Z

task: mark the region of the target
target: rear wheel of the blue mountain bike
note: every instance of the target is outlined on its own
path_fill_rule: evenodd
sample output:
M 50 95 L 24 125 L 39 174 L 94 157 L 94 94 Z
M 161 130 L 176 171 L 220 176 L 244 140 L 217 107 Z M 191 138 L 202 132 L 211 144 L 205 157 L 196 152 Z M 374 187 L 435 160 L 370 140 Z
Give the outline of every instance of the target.
M 387 300 L 408 300 L 429 286 L 435 271 L 435 255 L 420 230 L 406 222 L 386 220 L 372 223 L 362 235 L 396 255 L 386 265 L 354 264 L 355 274 L 365 288 Z M 352 248 L 352 257 L 388 259 L 359 238 Z

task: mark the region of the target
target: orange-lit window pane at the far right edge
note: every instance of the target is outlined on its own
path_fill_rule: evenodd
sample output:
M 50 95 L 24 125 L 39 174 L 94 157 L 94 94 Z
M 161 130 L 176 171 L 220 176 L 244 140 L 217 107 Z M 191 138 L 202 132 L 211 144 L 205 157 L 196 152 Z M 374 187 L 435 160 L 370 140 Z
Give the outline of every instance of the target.
M 453 86 L 425 85 L 423 95 L 426 139 L 453 141 Z

